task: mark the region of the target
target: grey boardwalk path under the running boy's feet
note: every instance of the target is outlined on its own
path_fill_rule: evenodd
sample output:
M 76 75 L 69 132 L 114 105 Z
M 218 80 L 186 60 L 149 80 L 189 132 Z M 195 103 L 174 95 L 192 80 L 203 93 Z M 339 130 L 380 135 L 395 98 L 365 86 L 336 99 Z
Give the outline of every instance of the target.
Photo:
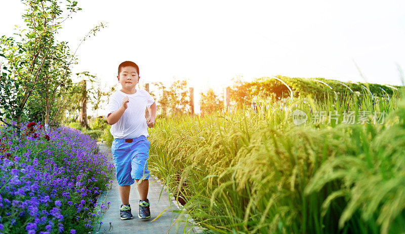
M 107 153 L 108 160 L 112 162 L 111 148 L 105 144 L 99 144 L 99 147 L 101 151 Z M 94 233 L 194 233 L 191 223 L 187 222 L 186 225 L 184 215 L 179 216 L 177 213 L 171 212 L 172 210 L 178 210 L 178 208 L 169 199 L 167 191 L 165 189 L 162 191 L 163 186 L 156 180 L 152 176 L 149 178 L 148 199 L 150 202 L 151 218 L 147 220 L 138 218 L 139 194 L 136 187 L 132 185 L 130 205 L 134 219 L 120 220 L 119 207 L 121 200 L 118 184 L 114 176 L 111 189 L 103 192 L 99 197 L 99 204 L 103 203 L 107 205 L 107 201 L 110 204 L 103 215 L 102 224 L 95 225 Z M 155 219 L 163 211 L 164 213 Z

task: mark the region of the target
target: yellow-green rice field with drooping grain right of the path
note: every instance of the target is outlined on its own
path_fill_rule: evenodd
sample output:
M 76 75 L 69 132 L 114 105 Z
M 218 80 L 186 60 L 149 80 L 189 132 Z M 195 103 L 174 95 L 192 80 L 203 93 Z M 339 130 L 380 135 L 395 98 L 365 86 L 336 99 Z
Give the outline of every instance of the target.
M 151 172 L 207 233 L 405 231 L 405 101 L 268 99 L 156 121 Z

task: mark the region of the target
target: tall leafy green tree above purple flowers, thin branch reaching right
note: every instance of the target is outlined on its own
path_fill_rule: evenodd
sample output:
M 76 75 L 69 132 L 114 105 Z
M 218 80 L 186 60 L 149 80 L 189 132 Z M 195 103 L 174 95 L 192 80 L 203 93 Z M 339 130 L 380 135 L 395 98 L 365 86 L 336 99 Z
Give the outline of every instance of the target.
M 6 59 L 0 71 L 1 121 L 5 122 L 4 118 L 15 121 L 15 127 L 19 128 L 23 116 L 38 118 L 35 121 L 42 116 L 41 120 L 48 125 L 52 113 L 64 114 L 61 106 L 55 107 L 54 104 L 65 98 L 66 89 L 71 85 L 70 65 L 75 63 L 76 52 L 70 55 L 67 42 L 56 42 L 54 35 L 64 20 L 81 10 L 76 1 L 65 2 L 69 14 L 64 18 L 61 17 L 60 1 L 22 0 L 27 6 L 27 13 L 22 16 L 27 29 L 16 34 L 19 40 L 6 36 L 0 38 L 0 56 Z M 93 28 L 80 44 L 101 27 L 104 27 L 102 23 Z M 40 107 L 30 102 L 40 104 Z

